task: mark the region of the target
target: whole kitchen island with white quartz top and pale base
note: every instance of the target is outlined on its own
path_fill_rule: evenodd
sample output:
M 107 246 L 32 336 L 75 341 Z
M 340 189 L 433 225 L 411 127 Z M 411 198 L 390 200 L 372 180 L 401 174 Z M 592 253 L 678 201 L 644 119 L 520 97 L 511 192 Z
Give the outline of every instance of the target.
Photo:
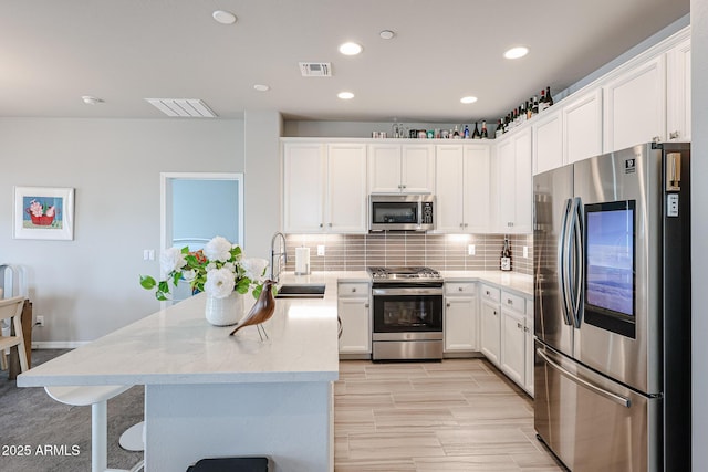
M 205 301 L 158 311 L 21 374 L 18 386 L 144 385 L 150 472 L 233 455 L 269 457 L 274 471 L 333 470 L 336 284 L 323 300 L 278 300 L 263 342 L 254 326 L 229 336 L 232 327 L 209 325 Z

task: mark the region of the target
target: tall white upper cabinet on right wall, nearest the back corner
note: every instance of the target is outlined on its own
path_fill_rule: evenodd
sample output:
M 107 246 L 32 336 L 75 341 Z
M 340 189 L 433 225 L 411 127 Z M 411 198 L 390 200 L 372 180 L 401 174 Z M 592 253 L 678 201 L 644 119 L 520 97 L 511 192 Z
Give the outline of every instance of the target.
M 499 143 L 497 160 L 497 230 L 502 233 L 530 233 L 533 217 L 531 128 L 517 132 Z

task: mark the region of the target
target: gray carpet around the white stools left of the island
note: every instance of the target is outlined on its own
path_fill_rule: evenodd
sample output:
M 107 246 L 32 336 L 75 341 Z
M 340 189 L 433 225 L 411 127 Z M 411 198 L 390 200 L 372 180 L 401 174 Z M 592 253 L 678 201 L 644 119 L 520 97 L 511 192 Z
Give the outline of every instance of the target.
M 64 353 L 35 349 L 32 365 Z M 108 468 L 131 469 L 143 458 L 118 444 L 123 431 L 143 420 L 143 399 L 144 389 L 136 386 L 108 400 Z M 41 387 L 18 388 L 0 370 L 0 471 L 91 471 L 91 407 L 60 403 Z

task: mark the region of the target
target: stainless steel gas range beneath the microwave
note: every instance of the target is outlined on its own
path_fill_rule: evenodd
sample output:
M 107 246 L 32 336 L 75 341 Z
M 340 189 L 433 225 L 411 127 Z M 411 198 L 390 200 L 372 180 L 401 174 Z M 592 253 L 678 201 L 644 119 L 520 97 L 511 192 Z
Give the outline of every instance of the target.
M 429 268 L 368 268 L 374 360 L 442 358 L 442 277 Z

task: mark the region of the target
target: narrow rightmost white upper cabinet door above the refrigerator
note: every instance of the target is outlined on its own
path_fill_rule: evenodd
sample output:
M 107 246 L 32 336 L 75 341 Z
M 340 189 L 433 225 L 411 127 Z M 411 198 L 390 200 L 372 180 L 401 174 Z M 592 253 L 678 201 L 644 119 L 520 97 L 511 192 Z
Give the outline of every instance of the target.
M 690 141 L 690 39 L 667 54 L 666 130 L 669 141 Z

